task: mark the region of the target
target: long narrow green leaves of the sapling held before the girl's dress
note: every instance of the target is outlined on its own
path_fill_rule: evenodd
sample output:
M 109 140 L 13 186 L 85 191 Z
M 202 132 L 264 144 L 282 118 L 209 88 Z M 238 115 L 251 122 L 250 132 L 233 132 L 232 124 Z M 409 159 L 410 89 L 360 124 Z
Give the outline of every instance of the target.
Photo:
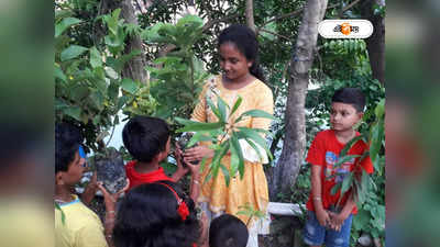
M 207 104 L 219 120 L 215 123 L 200 123 L 176 117 L 178 123 L 185 125 L 183 128 L 177 130 L 177 132 L 195 132 L 194 136 L 187 144 L 187 147 L 191 147 L 198 142 L 211 142 L 209 148 L 215 150 L 215 155 L 208 167 L 209 172 L 204 182 L 209 181 L 212 177 L 216 178 L 219 170 L 222 171 L 227 186 L 229 186 L 230 179 L 235 178 L 238 173 L 240 175 L 240 179 L 243 179 L 244 158 L 239 143 L 240 139 L 246 141 L 256 154 L 258 154 L 260 158 L 262 158 L 262 154 L 260 154 L 260 149 L 256 145 L 265 150 L 271 160 L 273 159 L 272 153 L 267 148 L 266 141 L 261 135 L 271 135 L 271 133 L 262 128 L 242 127 L 239 126 L 239 123 L 245 117 L 264 117 L 273 120 L 274 116 L 262 110 L 250 110 L 243 112 L 232 122 L 231 116 L 239 109 L 241 102 L 242 98 L 239 97 L 231 109 L 220 97 L 217 97 L 217 105 L 207 98 Z M 229 169 L 221 164 L 222 158 L 228 153 L 231 154 L 231 165 Z M 206 160 L 206 158 L 201 160 L 201 171 L 205 169 Z

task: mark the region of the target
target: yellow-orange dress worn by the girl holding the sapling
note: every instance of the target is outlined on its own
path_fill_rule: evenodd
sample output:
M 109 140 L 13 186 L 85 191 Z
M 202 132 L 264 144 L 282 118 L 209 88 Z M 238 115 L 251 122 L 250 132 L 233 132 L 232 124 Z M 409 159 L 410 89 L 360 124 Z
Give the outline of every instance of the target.
M 234 102 L 239 98 L 242 98 L 242 103 L 234 114 L 230 117 L 230 123 L 233 123 L 238 116 L 249 110 L 263 110 L 270 114 L 273 114 L 274 102 L 272 90 L 261 80 L 255 79 L 248 86 L 238 89 L 229 90 L 222 85 L 222 77 L 217 76 L 209 79 L 204 86 L 200 93 L 199 102 L 196 105 L 191 120 L 198 122 L 217 122 L 218 119 L 210 110 L 207 104 L 207 98 L 210 98 L 217 105 L 217 96 L 220 96 L 230 108 L 233 106 Z M 262 117 L 245 117 L 239 122 L 239 126 L 252 127 L 252 128 L 264 128 L 268 130 L 271 120 Z M 208 145 L 208 144 L 202 144 Z M 211 178 L 207 183 L 204 183 L 209 169 L 204 169 L 201 173 L 200 195 L 198 202 L 208 207 L 212 215 L 222 213 L 229 213 L 238 216 L 244 223 L 248 223 L 249 216 L 238 215 L 237 213 L 241 210 L 240 206 L 249 204 L 253 210 L 258 210 L 263 213 L 266 212 L 268 203 L 267 181 L 263 171 L 263 162 L 267 162 L 267 157 L 263 159 L 246 144 L 246 142 L 240 142 L 244 157 L 244 177 L 241 180 L 240 176 L 237 175 L 231 178 L 229 187 L 226 186 L 224 177 L 222 172 L 219 172 L 217 178 Z M 264 151 L 260 151 L 264 154 Z M 226 155 L 221 160 L 228 169 L 230 167 L 231 156 Z M 206 168 L 209 167 L 211 159 L 207 160 Z M 248 227 L 252 227 L 253 222 L 248 224 Z

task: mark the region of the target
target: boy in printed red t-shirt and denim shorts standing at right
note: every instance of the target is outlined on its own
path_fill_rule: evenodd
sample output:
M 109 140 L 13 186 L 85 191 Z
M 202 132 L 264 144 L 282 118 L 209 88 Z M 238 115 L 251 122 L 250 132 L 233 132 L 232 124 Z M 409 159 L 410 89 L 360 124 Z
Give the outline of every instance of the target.
M 355 169 L 355 165 L 367 173 L 373 172 L 373 165 L 370 157 L 365 157 L 363 160 L 353 158 L 334 167 L 344 145 L 360 135 L 353 126 L 363 116 L 365 97 L 358 88 L 342 88 L 334 92 L 331 102 L 331 130 L 317 134 L 306 159 L 311 164 L 311 191 L 307 202 L 304 240 L 310 246 L 326 244 L 327 247 L 346 247 L 350 244 L 352 215 L 358 213 L 356 204 L 351 190 L 338 204 L 340 191 L 331 194 L 331 189 L 343 180 L 343 173 Z M 367 149 L 369 146 L 361 139 L 346 155 L 362 155 Z M 336 173 L 338 176 L 331 177 Z

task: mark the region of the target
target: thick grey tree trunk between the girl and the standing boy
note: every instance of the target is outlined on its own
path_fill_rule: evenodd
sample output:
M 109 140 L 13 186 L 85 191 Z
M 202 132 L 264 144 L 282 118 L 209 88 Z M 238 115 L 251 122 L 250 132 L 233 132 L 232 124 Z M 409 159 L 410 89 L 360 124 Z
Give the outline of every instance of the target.
M 318 38 L 318 23 L 326 13 L 327 0 L 308 0 L 302 13 L 298 38 L 289 68 L 289 85 L 286 103 L 286 134 L 282 155 L 274 168 L 271 200 L 280 192 L 289 194 L 295 184 L 306 149 L 305 104 L 309 82 L 309 69 L 314 63 L 314 50 Z

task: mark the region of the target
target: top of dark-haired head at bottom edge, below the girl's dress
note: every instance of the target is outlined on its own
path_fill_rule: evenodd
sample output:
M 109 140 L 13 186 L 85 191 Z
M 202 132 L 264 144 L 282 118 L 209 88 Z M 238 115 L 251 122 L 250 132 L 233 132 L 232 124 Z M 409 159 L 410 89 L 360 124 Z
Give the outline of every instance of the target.
M 249 232 L 240 218 L 223 214 L 209 226 L 209 247 L 245 247 Z

